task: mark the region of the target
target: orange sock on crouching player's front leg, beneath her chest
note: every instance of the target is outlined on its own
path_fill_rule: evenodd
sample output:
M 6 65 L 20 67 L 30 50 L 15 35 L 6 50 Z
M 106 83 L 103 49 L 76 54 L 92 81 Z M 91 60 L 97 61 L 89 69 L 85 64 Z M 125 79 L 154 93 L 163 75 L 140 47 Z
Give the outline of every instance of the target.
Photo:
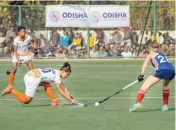
M 56 98 L 56 96 L 54 95 L 53 89 L 51 88 L 51 85 L 45 85 L 45 92 L 47 94 L 47 96 L 51 99 L 52 102 L 58 103 L 58 99 Z

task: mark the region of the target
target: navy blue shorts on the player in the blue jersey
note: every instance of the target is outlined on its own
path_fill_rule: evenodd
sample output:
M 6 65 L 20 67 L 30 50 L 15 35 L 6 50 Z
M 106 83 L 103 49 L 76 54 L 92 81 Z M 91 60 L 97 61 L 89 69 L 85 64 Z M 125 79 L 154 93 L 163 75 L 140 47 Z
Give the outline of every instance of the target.
M 175 77 L 174 70 L 156 70 L 152 74 L 154 77 L 164 80 L 172 80 Z

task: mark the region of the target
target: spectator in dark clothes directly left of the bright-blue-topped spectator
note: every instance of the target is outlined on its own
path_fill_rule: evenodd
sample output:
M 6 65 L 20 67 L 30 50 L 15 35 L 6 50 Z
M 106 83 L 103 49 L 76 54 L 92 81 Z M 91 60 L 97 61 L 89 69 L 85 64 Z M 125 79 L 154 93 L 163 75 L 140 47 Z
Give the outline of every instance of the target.
M 57 31 L 51 32 L 50 46 L 60 45 L 60 34 Z

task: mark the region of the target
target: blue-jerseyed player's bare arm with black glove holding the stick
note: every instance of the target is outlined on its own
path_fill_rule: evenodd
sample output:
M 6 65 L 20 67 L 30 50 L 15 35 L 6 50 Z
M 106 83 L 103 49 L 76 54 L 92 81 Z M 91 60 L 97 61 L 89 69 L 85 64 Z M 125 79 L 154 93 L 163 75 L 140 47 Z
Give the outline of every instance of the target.
M 145 70 L 146 70 L 146 68 L 147 68 L 148 63 L 149 63 L 150 60 L 151 60 L 151 57 L 150 57 L 150 55 L 148 55 L 145 58 L 145 61 L 144 61 L 143 65 L 142 65 L 141 74 L 138 76 L 138 81 L 139 82 L 141 82 L 141 81 L 144 80 L 144 73 L 145 73 Z

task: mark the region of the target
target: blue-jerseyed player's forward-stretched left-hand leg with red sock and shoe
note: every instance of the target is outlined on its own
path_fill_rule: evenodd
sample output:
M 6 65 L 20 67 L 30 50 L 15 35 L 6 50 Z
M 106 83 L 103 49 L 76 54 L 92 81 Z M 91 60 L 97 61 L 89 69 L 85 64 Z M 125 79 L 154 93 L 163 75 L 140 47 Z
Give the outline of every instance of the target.
M 145 96 L 146 91 L 152 87 L 154 84 L 159 82 L 160 79 L 157 77 L 154 77 L 153 75 L 150 75 L 145 82 L 143 83 L 142 87 L 140 88 L 139 92 L 136 96 L 136 104 L 134 104 L 130 109 L 129 112 L 137 111 L 142 108 L 141 102 Z

